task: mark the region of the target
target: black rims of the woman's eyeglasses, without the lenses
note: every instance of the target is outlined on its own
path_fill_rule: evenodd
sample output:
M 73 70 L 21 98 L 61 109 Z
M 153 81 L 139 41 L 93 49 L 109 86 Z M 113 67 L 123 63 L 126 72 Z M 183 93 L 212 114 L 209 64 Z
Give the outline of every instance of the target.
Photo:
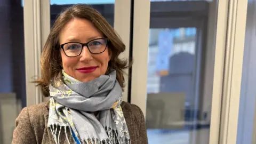
M 60 48 L 63 50 L 63 52 L 65 53 L 65 55 L 66 55 L 67 57 L 70 57 L 70 56 L 68 56 L 68 55 L 66 54 L 66 52 L 65 52 L 65 50 L 64 50 L 64 45 L 65 45 L 65 44 L 69 44 L 69 43 L 78 43 L 78 44 L 81 44 L 81 45 L 82 45 L 81 52 L 80 52 L 78 55 L 76 55 L 76 56 L 71 56 L 70 58 L 72 58 L 72 57 L 77 57 L 77 56 L 81 55 L 81 53 L 82 53 L 82 51 L 83 51 L 83 49 L 84 49 L 84 46 L 87 47 L 87 49 L 89 50 L 89 52 L 90 52 L 91 54 L 100 54 L 100 53 L 102 53 L 102 52 L 99 52 L 99 53 L 92 53 L 92 52 L 90 51 L 90 49 L 89 49 L 89 46 L 88 46 L 88 44 L 89 44 L 90 42 L 95 41 L 95 40 L 97 40 L 97 39 L 105 39 L 105 41 L 106 41 L 106 46 L 105 46 L 105 49 L 102 51 L 102 52 L 105 52 L 106 49 L 107 49 L 108 38 L 96 38 L 96 39 L 92 39 L 91 41 L 89 41 L 89 42 L 87 42 L 87 43 L 68 42 L 68 43 L 61 44 L 61 45 L 60 45 Z

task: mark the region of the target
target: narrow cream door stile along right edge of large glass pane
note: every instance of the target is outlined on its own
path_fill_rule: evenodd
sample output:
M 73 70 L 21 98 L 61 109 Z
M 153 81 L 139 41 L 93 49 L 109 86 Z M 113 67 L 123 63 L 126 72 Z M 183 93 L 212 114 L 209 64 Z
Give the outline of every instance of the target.
M 219 143 L 220 119 L 222 107 L 223 72 L 225 66 L 226 33 L 229 0 L 218 1 L 217 31 L 215 38 L 214 78 L 211 108 L 211 126 L 209 144 Z

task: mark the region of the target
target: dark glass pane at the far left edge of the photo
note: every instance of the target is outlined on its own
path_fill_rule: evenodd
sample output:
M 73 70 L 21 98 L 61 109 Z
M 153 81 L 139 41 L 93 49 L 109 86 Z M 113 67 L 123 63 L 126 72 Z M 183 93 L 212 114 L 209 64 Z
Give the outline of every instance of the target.
M 0 143 L 7 144 L 26 106 L 23 7 L 21 1 L 0 3 Z

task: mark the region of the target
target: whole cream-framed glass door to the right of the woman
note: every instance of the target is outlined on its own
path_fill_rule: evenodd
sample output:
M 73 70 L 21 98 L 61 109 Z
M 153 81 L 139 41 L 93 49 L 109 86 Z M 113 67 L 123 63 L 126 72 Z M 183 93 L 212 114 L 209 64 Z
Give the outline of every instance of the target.
M 146 115 L 149 143 L 210 142 L 213 83 L 222 79 L 214 77 L 214 66 L 222 67 L 215 58 L 223 58 L 215 55 L 218 4 L 223 3 L 134 1 L 131 102 Z M 139 5 L 146 10 L 137 10 Z

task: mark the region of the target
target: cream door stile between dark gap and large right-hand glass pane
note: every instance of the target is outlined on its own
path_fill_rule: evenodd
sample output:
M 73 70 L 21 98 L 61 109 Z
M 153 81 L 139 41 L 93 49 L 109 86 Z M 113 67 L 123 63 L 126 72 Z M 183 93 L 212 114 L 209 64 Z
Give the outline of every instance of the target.
M 150 1 L 134 1 L 133 6 L 131 103 L 138 105 L 146 116 Z

